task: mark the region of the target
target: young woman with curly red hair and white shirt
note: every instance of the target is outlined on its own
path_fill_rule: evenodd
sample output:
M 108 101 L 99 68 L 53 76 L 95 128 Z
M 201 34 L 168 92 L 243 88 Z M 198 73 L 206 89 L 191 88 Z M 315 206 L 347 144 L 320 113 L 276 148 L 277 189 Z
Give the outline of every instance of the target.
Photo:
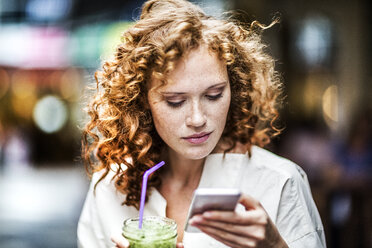
M 325 247 L 305 173 L 263 147 L 278 134 L 280 82 L 253 29 L 207 16 L 184 0 L 150 0 L 96 73 L 84 132 L 92 175 L 80 247 L 129 247 L 123 221 L 174 219 L 178 247 Z M 183 231 L 198 187 L 239 188 L 238 211 L 209 211 Z M 113 241 L 113 242 L 112 242 Z

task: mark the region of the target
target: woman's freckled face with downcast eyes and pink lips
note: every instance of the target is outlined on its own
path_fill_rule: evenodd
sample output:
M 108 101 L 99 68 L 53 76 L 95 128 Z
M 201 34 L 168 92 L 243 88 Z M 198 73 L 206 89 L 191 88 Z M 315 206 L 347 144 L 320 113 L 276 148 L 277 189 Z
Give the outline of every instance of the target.
M 148 101 L 155 128 L 171 153 L 204 158 L 226 124 L 231 96 L 226 65 L 201 46 L 181 59 L 167 80 L 157 89 L 160 81 L 150 82 Z

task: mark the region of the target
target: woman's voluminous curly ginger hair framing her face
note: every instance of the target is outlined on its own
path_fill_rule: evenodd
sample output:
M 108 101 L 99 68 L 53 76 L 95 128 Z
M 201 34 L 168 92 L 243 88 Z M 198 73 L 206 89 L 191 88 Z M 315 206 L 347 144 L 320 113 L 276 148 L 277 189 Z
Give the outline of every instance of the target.
M 165 84 L 177 61 L 200 45 L 216 53 L 228 71 L 231 103 L 221 137 L 228 144 L 224 152 L 239 142 L 250 155 L 252 145 L 268 144 L 280 132 L 274 122 L 281 82 L 261 41 L 264 28 L 257 22 L 244 28 L 208 16 L 185 0 L 144 3 L 140 19 L 123 34 L 114 59 L 95 73 L 97 89 L 83 132 L 82 154 L 89 175 L 104 170 L 98 184 L 112 164 L 125 164 L 126 168 L 118 166 L 112 180 L 126 195 L 123 204 L 139 207 L 143 173 L 159 162 L 165 147 L 148 108 L 147 82 L 156 78 Z M 160 173 L 149 178 L 149 187 L 161 184 Z

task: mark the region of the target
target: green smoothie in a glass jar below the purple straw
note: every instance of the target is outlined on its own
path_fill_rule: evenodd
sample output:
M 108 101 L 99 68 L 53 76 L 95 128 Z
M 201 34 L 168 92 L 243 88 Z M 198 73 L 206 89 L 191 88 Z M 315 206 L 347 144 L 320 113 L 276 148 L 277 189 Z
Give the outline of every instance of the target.
M 177 224 L 174 220 L 148 216 L 143 218 L 142 228 L 138 228 L 138 218 L 124 221 L 123 236 L 130 248 L 175 248 L 177 243 Z

